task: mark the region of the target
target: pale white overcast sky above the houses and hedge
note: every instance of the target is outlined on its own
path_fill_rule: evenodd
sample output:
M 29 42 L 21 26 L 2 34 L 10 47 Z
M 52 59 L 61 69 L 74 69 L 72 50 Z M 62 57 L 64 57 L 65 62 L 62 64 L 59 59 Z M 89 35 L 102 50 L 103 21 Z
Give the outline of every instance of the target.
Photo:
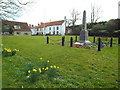
M 80 20 L 77 21 L 76 24 L 81 24 L 83 11 L 86 10 L 87 22 L 90 22 L 91 5 L 95 5 L 101 8 L 101 18 L 98 21 L 108 21 L 118 18 L 119 1 L 120 0 L 33 0 L 31 5 L 24 6 L 21 17 L 16 20 L 37 25 L 41 22 L 64 20 L 65 16 L 67 19 L 70 19 L 70 12 L 75 9 L 80 13 Z

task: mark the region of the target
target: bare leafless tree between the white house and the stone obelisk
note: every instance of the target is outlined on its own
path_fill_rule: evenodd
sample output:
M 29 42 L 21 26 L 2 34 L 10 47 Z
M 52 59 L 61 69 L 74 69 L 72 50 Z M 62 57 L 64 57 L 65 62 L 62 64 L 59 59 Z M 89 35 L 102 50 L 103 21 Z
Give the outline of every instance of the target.
M 71 12 L 70 12 L 70 15 L 71 15 L 71 19 L 68 20 L 68 25 L 72 25 L 73 26 L 73 30 L 74 30 L 74 27 L 75 27 L 75 24 L 78 20 L 80 20 L 80 13 L 73 9 Z

